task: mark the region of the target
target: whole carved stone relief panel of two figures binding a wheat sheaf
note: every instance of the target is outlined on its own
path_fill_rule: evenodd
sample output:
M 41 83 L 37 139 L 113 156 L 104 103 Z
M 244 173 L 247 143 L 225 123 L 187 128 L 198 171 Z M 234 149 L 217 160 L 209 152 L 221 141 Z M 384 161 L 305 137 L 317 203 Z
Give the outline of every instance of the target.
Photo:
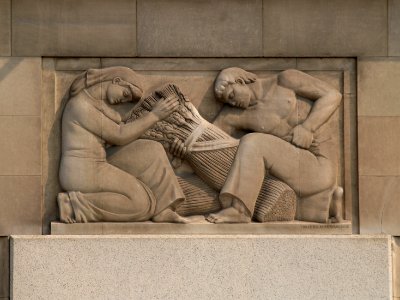
M 348 66 L 302 72 L 290 60 L 91 62 L 83 70 L 67 60 L 45 64 L 53 81 L 47 107 L 56 112 L 45 143 L 59 158 L 45 159 L 48 220 L 351 219 Z M 59 181 L 50 176 L 57 173 Z

